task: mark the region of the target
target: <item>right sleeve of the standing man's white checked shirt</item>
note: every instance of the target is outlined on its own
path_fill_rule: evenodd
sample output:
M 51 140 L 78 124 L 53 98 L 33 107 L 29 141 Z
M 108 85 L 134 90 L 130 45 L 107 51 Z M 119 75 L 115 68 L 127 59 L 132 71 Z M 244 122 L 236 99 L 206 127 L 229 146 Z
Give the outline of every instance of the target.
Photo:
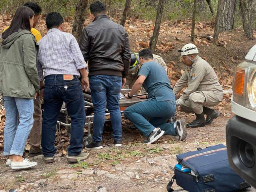
M 84 61 L 82 52 L 79 48 L 79 45 L 75 37 L 73 37 L 70 42 L 70 48 L 71 48 L 71 55 L 75 61 L 75 65 L 77 69 L 86 68 L 86 63 Z

